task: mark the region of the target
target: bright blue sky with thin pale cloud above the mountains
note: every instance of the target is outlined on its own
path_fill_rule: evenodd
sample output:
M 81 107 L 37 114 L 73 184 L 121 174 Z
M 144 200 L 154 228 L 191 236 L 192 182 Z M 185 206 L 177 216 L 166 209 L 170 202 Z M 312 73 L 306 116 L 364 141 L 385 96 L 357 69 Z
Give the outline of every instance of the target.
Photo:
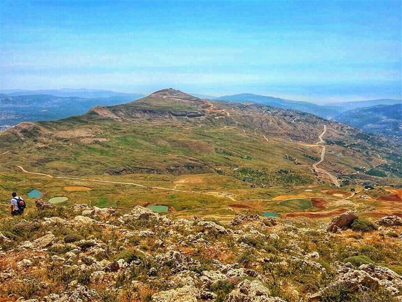
M 401 98 L 401 2 L 1 6 L 1 89 Z

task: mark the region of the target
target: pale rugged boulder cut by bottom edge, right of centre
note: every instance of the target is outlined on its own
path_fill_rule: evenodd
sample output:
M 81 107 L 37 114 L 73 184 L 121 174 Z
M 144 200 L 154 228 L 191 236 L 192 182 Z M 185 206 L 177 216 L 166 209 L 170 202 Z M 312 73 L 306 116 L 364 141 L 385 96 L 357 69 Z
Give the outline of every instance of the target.
M 259 280 L 243 280 L 225 297 L 225 302 L 284 302 L 272 297 L 268 288 Z

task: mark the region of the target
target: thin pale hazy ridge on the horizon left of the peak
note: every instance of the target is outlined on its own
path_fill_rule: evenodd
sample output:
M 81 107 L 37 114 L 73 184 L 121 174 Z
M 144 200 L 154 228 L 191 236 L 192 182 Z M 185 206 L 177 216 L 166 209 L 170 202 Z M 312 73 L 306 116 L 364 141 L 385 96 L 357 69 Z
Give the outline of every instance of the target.
M 120 100 L 135 100 L 143 97 L 141 94 L 130 94 L 109 90 L 97 89 L 46 89 L 46 90 L 2 90 L 2 94 L 9 96 L 24 95 L 52 95 L 57 97 L 78 97 L 78 98 L 110 98 L 119 97 Z

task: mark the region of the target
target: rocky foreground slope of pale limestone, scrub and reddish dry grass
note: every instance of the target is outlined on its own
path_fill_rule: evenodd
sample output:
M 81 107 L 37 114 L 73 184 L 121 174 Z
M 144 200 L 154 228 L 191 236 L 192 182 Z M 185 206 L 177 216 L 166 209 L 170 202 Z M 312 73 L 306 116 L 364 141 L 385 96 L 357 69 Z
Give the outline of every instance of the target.
M 223 225 L 141 206 L 37 207 L 0 225 L 0 301 L 402 301 L 396 216 Z

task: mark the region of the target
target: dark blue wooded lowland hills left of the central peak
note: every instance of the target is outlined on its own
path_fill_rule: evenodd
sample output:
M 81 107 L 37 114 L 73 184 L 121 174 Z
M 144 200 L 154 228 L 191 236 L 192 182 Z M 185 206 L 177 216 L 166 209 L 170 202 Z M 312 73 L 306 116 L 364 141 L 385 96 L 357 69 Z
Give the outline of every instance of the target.
M 136 98 L 140 97 L 137 95 Z M 131 95 L 105 98 L 59 97 L 52 95 L 0 95 L 0 130 L 23 121 L 55 120 L 82 114 L 96 105 L 108 106 L 134 100 Z

